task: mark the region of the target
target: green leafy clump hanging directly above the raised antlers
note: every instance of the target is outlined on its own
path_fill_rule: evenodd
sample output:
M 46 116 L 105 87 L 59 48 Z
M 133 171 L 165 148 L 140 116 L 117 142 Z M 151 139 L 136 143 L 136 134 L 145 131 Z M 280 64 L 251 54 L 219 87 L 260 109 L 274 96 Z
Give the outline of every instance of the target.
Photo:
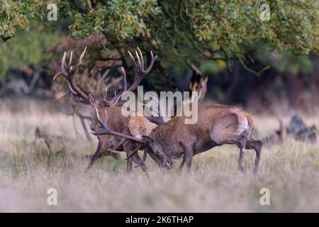
M 150 29 L 145 24 L 148 16 L 157 16 L 157 1 L 108 1 L 101 8 L 88 13 L 77 13 L 72 36 L 87 38 L 92 33 L 108 31 L 120 39 L 150 36 Z

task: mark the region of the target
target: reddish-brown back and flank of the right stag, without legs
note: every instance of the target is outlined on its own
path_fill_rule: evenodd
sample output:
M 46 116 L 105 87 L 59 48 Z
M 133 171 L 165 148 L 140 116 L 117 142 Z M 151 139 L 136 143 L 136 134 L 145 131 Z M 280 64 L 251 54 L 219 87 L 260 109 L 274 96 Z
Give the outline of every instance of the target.
M 215 140 L 223 142 L 229 138 L 247 133 L 250 137 L 254 129 L 252 116 L 235 106 L 218 104 L 199 105 L 198 120 L 194 124 L 186 124 L 185 116 L 176 116 L 171 121 L 159 125 L 151 136 L 158 143 L 206 143 Z M 193 107 L 195 108 L 195 106 Z

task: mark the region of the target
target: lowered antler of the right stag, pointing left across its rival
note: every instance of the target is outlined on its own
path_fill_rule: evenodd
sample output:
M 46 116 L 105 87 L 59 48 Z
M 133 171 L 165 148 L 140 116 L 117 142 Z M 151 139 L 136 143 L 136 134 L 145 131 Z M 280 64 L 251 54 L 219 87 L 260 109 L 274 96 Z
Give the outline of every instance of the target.
M 97 121 L 99 121 L 102 129 L 101 131 L 91 131 L 91 133 L 93 135 L 114 135 L 114 136 L 118 136 L 121 138 L 124 138 L 126 140 L 132 140 L 134 142 L 138 142 L 138 143 L 142 143 L 142 145 L 146 145 L 146 143 L 143 140 L 140 140 L 139 138 L 135 138 L 134 136 L 131 135 L 125 135 L 122 133 L 118 133 L 116 131 L 111 130 L 111 128 L 108 128 L 108 114 L 106 113 L 106 109 L 104 109 L 104 113 L 105 113 L 105 118 L 102 121 L 101 117 L 99 115 L 99 111 L 97 109 L 95 109 L 96 111 L 96 116 L 97 116 Z

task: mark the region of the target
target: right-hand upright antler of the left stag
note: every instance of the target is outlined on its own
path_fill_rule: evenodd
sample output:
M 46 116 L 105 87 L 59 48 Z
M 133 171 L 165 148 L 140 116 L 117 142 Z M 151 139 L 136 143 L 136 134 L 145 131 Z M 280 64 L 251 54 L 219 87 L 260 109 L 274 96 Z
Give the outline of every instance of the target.
M 144 60 L 143 60 L 143 55 L 142 52 L 140 51 L 140 48 L 138 48 L 138 51 L 135 51 L 136 57 L 138 59 L 138 63 L 136 63 L 135 58 L 133 57 L 132 53 L 128 51 L 128 54 L 130 55 L 130 60 L 132 60 L 133 68 L 134 68 L 134 82 L 133 84 L 127 89 L 127 82 L 126 82 L 126 73 L 124 67 L 121 67 L 121 74 L 123 77 L 123 91 L 114 96 L 113 99 L 111 99 L 111 104 L 116 104 L 119 99 L 121 99 L 121 96 L 123 92 L 133 92 L 137 87 L 138 84 L 140 84 L 140 81 L 145 77 L 146 74 L 152 70 L 152 67 L 155 63 L 155 60 L 157 58 L 157 55 L 154 57 L 153 52 L 151 51 L 151 60 L 150 60 L 150 65 L 147 67 L 145 70 L 144 68 Z

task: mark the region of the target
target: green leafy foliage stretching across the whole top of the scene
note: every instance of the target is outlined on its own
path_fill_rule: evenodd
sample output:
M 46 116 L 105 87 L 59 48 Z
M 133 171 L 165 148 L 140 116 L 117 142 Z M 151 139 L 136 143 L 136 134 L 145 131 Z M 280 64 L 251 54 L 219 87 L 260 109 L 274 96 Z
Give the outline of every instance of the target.
M 48 26 L 45 19 L 48 3 L 57 4 L 59 20 L 69 20 L 72 38 L 83 39 L 103 33 L 111 43 L 110 49 L 123 51 L 136 46 L 151 49 L 159 55 L 161 74 L 171 74 L 167 69 L 172 67 L 184 69 L 186 60 L 196 64 L 217 60 L 228 65 L 240 60 L 245 69 L 259 74 L 247 67 L 250 62 L 247 51 L 252 48 L 265 55 L 265 63 L 272 63 L 267 56 L 274 52 L 285 58 L 291 53 L 318 54 L 319 50 L 316 0 L 2 0 L 0 37 L 14 36 L 19 30 L 28 31 L 34 23 L 39 26 L 39 21 Z M 260 18 L 262 3 L 269 4 L 269 21 Z M 38 50 L 42 52 L 43 49 Z M 37 56 L 31 58 L 26 63 L 39 62 Z M 288 64 L 290 59 L 287 58 Z M 299 60 L 309 65 L 306 58 L 298 57 L 293 62 Z M 8 65 L 4 61 L 0 63 L 2 67 Z M 220 68 L 223 67 L 222 64 Z M 281 65 L 278 70 L 280 67 L 287 68 Z M 302 69 L 301 66 L 291 68 L 295 73 Z

